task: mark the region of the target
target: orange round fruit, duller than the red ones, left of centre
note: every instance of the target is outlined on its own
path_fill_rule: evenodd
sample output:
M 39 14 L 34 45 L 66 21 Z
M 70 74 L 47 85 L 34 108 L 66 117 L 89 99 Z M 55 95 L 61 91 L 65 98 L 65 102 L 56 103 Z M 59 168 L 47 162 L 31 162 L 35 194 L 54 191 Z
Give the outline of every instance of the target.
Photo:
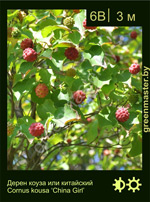
M 39 98 L 44 98 L 49 92 L 48 87 L 44 83 L 40 83 L 35 88 L 35 93 Z

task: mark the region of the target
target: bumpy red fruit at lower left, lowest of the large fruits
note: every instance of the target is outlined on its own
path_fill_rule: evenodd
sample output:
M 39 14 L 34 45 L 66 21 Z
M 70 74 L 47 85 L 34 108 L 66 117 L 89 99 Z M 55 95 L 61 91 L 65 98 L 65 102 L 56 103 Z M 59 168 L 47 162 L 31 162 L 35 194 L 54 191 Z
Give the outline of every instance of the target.
M 32 136 L 41 136 L 44 133 L 44 126 L 41 123 L 32 123 L 29 132 Z

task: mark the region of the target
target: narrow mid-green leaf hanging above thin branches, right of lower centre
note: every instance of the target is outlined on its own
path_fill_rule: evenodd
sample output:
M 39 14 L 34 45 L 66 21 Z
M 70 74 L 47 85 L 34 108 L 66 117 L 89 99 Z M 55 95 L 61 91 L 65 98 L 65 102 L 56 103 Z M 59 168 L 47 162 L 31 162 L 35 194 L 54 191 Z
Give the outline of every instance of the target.
M 98 120 L 95 120 L 91 124 L 89 124 L 89 131 L 86 134 L 88 144 L 94 141 L 98 136 L 97 128 L 98 128 Z

